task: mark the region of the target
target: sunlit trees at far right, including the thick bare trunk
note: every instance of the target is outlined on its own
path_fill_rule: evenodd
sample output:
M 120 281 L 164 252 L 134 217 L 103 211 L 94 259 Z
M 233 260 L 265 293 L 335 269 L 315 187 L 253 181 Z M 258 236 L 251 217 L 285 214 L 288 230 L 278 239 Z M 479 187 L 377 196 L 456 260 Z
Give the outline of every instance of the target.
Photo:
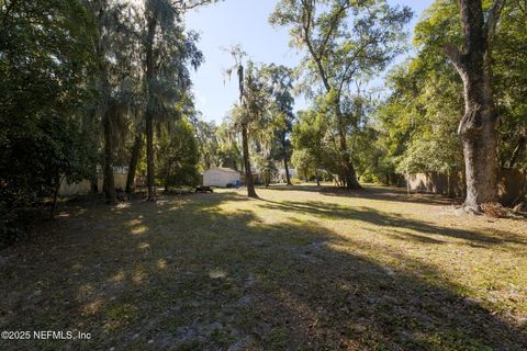
M 373 173 L 463 172 L 467 208 L 496 202 L 497 170 L 527 161 L 526 23 L 525 1 L 434 2 L 388 76 Z

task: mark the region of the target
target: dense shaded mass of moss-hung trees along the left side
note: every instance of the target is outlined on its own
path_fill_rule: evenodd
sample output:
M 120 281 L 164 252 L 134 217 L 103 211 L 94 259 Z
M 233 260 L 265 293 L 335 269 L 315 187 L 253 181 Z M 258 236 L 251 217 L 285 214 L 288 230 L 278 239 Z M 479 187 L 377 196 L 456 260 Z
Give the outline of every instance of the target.
M 98 167 L 109 203 L 116 162 L 132 191 L 143 155 L 148 200 L 156 177 L 180 181 L 176 166 L 197 179 L 190 69 L 203 55 L 183 18 L 211 2 L 0 2 L 2 231 L 64 179 L 97 186 Z

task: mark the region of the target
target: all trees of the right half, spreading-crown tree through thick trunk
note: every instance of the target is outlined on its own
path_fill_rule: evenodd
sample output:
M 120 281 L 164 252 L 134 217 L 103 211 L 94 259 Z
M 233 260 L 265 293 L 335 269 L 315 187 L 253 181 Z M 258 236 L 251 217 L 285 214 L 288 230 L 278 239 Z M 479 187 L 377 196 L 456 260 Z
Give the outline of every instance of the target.
M 304 49 L 300 88 L 312 98 L 293 127 L 293 163 L 351 189 L 356 176 L 390 183 L 395 173 L 462 172 L 463 208 L 497 202 L 498 169 L 527 160 L 526 9 L 520 0 L 435 1 L 412 56 L 379 93 L 368 82 L 405 49 L 410 9 L 281 1 L 270 21 Z

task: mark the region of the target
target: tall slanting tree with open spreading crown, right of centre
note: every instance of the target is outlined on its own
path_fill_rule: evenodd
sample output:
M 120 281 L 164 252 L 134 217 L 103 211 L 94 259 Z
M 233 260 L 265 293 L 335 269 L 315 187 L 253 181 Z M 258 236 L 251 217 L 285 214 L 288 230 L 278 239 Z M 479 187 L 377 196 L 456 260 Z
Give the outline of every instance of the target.
M 317 11 L 322 13 L 317 15 Z M 383 69 L 401 52 L 397 44 L 411 16 L 408 8 L 391 8 L 383 0 L 281 0 L 270 18 L 274 25 L 291 26 L 292 45 L 309 53 L 306 71 L 322 83 L 322 92 L 333 106 L 339 174 L 348 189 L 360 184 L 347 143 L 349 116 L 343 111 L 346 90 L 359 75 Z

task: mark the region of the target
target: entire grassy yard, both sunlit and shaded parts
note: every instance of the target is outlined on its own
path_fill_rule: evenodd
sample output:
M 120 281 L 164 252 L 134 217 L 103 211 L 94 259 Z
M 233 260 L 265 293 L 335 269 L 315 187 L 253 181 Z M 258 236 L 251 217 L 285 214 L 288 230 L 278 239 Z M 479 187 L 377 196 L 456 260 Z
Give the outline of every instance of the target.
M 527 350 L 527 222 L 314 186 L 83 199 L 0 251 L 0 350 Z

